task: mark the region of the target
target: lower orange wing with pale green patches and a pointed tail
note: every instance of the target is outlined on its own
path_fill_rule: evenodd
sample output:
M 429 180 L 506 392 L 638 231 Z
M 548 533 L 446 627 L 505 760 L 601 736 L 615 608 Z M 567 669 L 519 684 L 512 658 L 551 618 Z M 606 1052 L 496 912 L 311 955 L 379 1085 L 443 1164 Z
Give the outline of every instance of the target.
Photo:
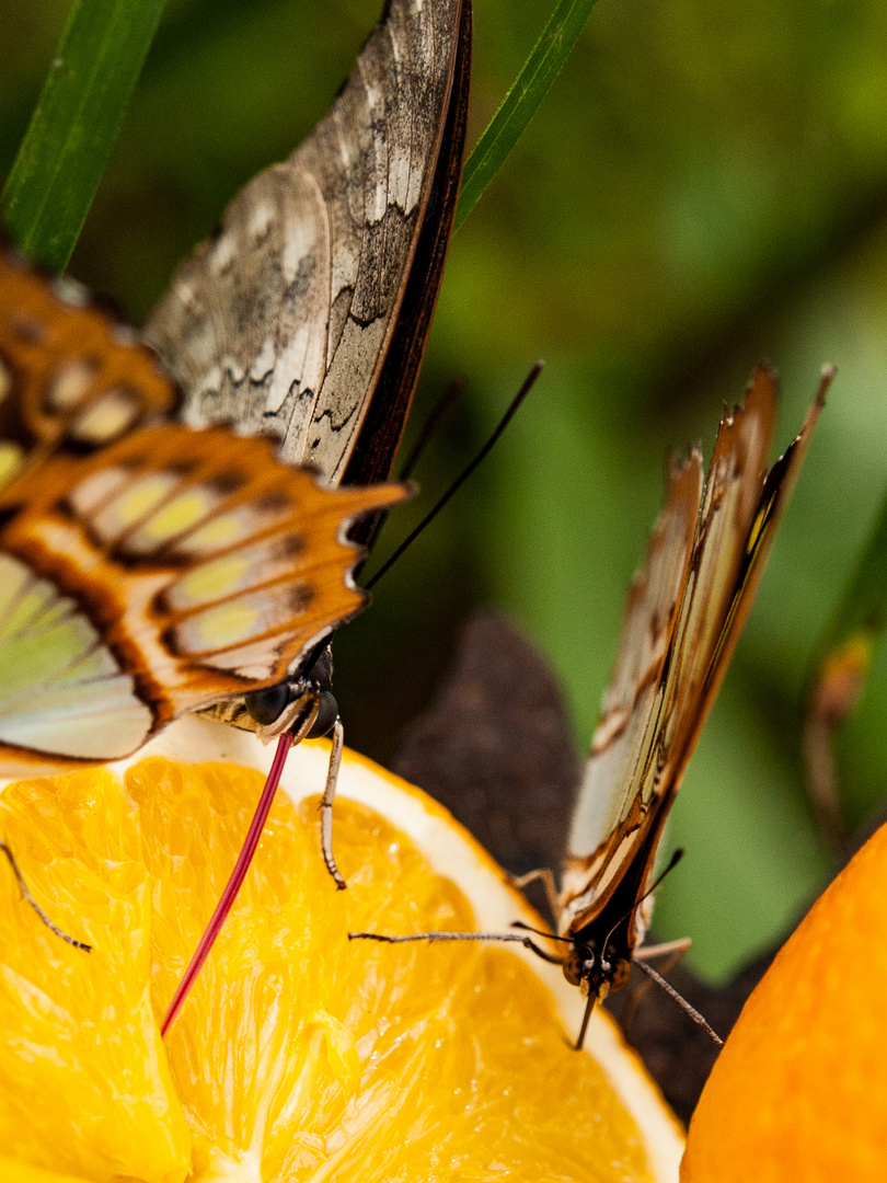
M 401 486 L 334 491 L 222 428 L 59 453 L 0 496 L 0 768 L 136 750 L 280 681 L 365 593 L 344 541 Z

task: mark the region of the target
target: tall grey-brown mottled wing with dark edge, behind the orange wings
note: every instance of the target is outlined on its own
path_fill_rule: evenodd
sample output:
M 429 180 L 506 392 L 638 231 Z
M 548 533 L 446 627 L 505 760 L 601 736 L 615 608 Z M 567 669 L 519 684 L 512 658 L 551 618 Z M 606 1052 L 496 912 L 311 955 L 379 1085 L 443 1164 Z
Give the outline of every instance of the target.
M 189 422 L 274 434 L 337 484 L 376 392 L 381 459 L 349 479 L 388 474 L 455 211 L 470 45 L 470 0 L 391 0 L 330 114 L 180 267 L 145 336 Z

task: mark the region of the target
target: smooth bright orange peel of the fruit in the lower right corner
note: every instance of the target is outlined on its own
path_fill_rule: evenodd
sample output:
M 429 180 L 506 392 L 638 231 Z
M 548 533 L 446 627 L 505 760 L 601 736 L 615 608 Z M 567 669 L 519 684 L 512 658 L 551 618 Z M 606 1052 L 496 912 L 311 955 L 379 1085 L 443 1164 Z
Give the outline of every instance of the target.
M 685 1183 L 887 1177 L 887 827 L 749 998 L 693 1116 Z

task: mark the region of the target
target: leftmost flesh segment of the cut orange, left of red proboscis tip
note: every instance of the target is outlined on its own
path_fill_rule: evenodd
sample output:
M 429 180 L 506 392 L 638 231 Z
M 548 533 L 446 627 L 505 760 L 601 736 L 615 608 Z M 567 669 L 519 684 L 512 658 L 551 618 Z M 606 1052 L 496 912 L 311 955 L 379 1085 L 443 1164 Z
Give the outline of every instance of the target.
M 24 781 L 0 833 L 53 918 L 50 932 L 0 867 L 0 1146 L 111 1181 L 141 1164 L 183 1178 L 189 1134 L 145 989 L 150 883 L 136 817 L 105 771 Z

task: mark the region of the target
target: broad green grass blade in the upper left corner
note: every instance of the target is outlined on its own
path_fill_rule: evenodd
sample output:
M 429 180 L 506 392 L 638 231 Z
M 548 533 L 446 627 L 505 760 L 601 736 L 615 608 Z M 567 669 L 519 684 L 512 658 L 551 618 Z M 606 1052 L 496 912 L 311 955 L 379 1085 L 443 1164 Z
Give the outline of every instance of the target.
M 19 246 L 64 271 L 117 140 L 163 0 L 75 0 L 0 198 Z

